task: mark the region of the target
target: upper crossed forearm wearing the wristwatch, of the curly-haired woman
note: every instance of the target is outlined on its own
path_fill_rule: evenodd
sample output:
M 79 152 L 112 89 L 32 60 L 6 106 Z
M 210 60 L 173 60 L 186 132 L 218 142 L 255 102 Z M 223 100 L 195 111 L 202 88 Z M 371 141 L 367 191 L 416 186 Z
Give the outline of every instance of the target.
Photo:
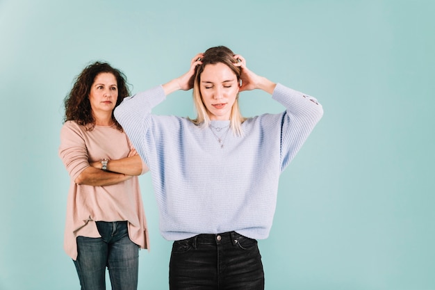
M 100 161 L 96 161 L 90 163 L 90 166 L 101 170 L 102 164 Z M 147 172 L 148 168 L 142 170 L 142 159 L 140 159 L 139 155 L 135 155 L 123 159 L 109 160 L 107 171 L 136 176 L 142 174 L 142 171 Z

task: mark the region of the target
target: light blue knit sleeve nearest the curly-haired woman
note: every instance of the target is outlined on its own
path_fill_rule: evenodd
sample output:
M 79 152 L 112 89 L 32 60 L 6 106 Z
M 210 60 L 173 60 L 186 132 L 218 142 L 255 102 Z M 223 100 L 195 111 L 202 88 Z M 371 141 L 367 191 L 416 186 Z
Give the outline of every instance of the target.
M 151 109 L 157 106 L 166 95 L 162 86 L 156 86 L 131 97 L 126 97 L 115 108 L 115 118 L 129 136 L 145 163 L 149 164 L 144 150 L 147 131 L 151 125 Z

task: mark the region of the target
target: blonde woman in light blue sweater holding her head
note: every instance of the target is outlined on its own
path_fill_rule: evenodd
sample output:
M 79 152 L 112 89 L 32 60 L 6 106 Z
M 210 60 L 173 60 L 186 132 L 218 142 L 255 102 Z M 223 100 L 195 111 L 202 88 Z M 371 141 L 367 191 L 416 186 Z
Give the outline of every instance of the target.
M 151 114 L 191 88 L 194 120 Z M 286 110 L 243 118 L 238 94 L 254 89 Z M 227 47 L 198 54 L 183 76 L 115 109 L 151 170 L 161 234 L 174 241 L 170 289 L 264 289 L 256 240 L 270 232 L 279 175 L 322 113 L 313 97 L 254 74 Z

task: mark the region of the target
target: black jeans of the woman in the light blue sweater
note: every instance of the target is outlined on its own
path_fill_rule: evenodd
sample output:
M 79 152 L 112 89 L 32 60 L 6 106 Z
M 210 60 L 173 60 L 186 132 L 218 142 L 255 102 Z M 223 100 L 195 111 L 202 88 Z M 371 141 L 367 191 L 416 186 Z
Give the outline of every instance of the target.
M 264 289 L 257 241 L 236 232 L 199 234 L 174 241 L 170 289 Z

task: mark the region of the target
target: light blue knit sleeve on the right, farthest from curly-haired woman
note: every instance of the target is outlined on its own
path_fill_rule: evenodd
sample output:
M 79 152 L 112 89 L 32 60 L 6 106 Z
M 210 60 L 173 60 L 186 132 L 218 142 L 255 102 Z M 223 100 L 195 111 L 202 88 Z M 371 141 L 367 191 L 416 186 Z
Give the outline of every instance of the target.
M 281 172 L 295 157 L 323 115 L 317 99 L 277 84 L 272 98 L 286 107 L 281 120 Z

